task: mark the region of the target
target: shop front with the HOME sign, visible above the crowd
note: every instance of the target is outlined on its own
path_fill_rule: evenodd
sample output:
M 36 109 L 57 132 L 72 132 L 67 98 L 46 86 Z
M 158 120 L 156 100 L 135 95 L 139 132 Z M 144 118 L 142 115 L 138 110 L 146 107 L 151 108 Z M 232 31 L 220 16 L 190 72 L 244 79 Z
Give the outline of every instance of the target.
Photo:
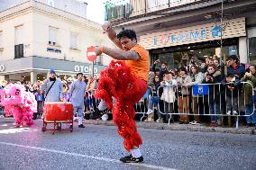
M 245 18 L 238 18 L 225 21 L 222 26 L 212 22 L 148 33 L 140 36 L 140 44 L 150 51 L 151 62 L 160 59 L 169 68 L 178 68 L 187 65 L 192 57 L 204 60 L 213 56 L 220 59 L 222 56 L 224 60 L 230 55 L 240 55 L 241 60 L 246 62 L 245 36 Z

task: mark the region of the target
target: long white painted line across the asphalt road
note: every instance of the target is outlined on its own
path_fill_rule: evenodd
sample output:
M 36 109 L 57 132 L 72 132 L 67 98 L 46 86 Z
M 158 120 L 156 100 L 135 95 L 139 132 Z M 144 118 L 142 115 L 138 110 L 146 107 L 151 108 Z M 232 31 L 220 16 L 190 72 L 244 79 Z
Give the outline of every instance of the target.
M 49 148 L 31 147 L 31 146 L 18 145 L 18 144 L 7 143 L 7 142 L 0 142 L 0 144 L 5 145 L 5 146 L 12 146 L 12 147 L 19 147 L 19 148 L 30 148 L 30 149 L 35 149 L 35 150 L 41 150 L 41 151 L 52 152 L 52 153 L 57 153 L 57 154 L 63 154 L 63 155 L 67 155 L 67 156 L 85 157 L 85 158 L 91 158 L 91 159 L 96 159 L 96 160 L 105 161 L 105 162 L 113 162 L 113 163 L 123 164 L 119 160 L 105 158 L 105 157 L 87 156 L 87 155 L 83 155 L 83 154 L 72 153 L 72 152 L 65 152 L 65 151 L 61 151 L 61 150 L 54 150 L 54 149 L 49 149 Z M 173 169 L 173 168 L 169 168 L 169 167 L 165 167 L 165 166 L 153 166 L 153 165 L 143 164 L 143 163 L 142 164 L 135 164 L 135 163 L 131 164 L 131 163 L 129 163 L 129 164 L 125 164 L 125 165 L 144 166 L 144 167 L 148 167 L 148 168 L 151 168 L 151 169 L 161 169 L 161 170 L 177 170 L 177 169 Z

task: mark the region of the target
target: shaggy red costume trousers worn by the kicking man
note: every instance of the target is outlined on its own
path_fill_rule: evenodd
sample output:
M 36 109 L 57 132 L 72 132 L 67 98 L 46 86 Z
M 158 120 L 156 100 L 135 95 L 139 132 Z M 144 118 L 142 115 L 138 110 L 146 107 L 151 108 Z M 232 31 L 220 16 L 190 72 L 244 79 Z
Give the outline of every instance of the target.
M 123 61 L 112 61 L 101 72 L 97 85 L 96 98 L 105 100 L 108 109 L 112 110 L 113 121 L 118 127 L 118 133 L 123 137 L 123 145 L 127 151 L 142 144 L 142 138 L 137 132 L 134 103 L 137 103 L 146 93 L 146 84 L 131 74 L 130 67 Z M 113 98 L 115 98 L 115 105 Z

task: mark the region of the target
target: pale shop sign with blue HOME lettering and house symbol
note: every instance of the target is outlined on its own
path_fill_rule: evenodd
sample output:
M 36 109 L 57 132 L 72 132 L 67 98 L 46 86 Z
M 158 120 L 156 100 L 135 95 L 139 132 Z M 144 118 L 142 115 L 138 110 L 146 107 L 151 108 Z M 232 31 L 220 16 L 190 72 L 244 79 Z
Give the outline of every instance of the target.
M 158 49 L 208 40 L 220 40 L 246 36 L 245 18 L 223 22 L 212 22 L 178 30 L 151 32 L 140 36 L 145 49 Z

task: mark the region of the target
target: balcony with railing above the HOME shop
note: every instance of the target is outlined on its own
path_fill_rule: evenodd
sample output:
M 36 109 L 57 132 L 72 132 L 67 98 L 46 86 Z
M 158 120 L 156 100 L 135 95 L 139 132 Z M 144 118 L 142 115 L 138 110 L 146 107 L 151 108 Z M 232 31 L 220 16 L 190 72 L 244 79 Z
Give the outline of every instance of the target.
M 105 2 L 105 20 L 129 18 L 200 3 L 203 0 L 110 0 Z

